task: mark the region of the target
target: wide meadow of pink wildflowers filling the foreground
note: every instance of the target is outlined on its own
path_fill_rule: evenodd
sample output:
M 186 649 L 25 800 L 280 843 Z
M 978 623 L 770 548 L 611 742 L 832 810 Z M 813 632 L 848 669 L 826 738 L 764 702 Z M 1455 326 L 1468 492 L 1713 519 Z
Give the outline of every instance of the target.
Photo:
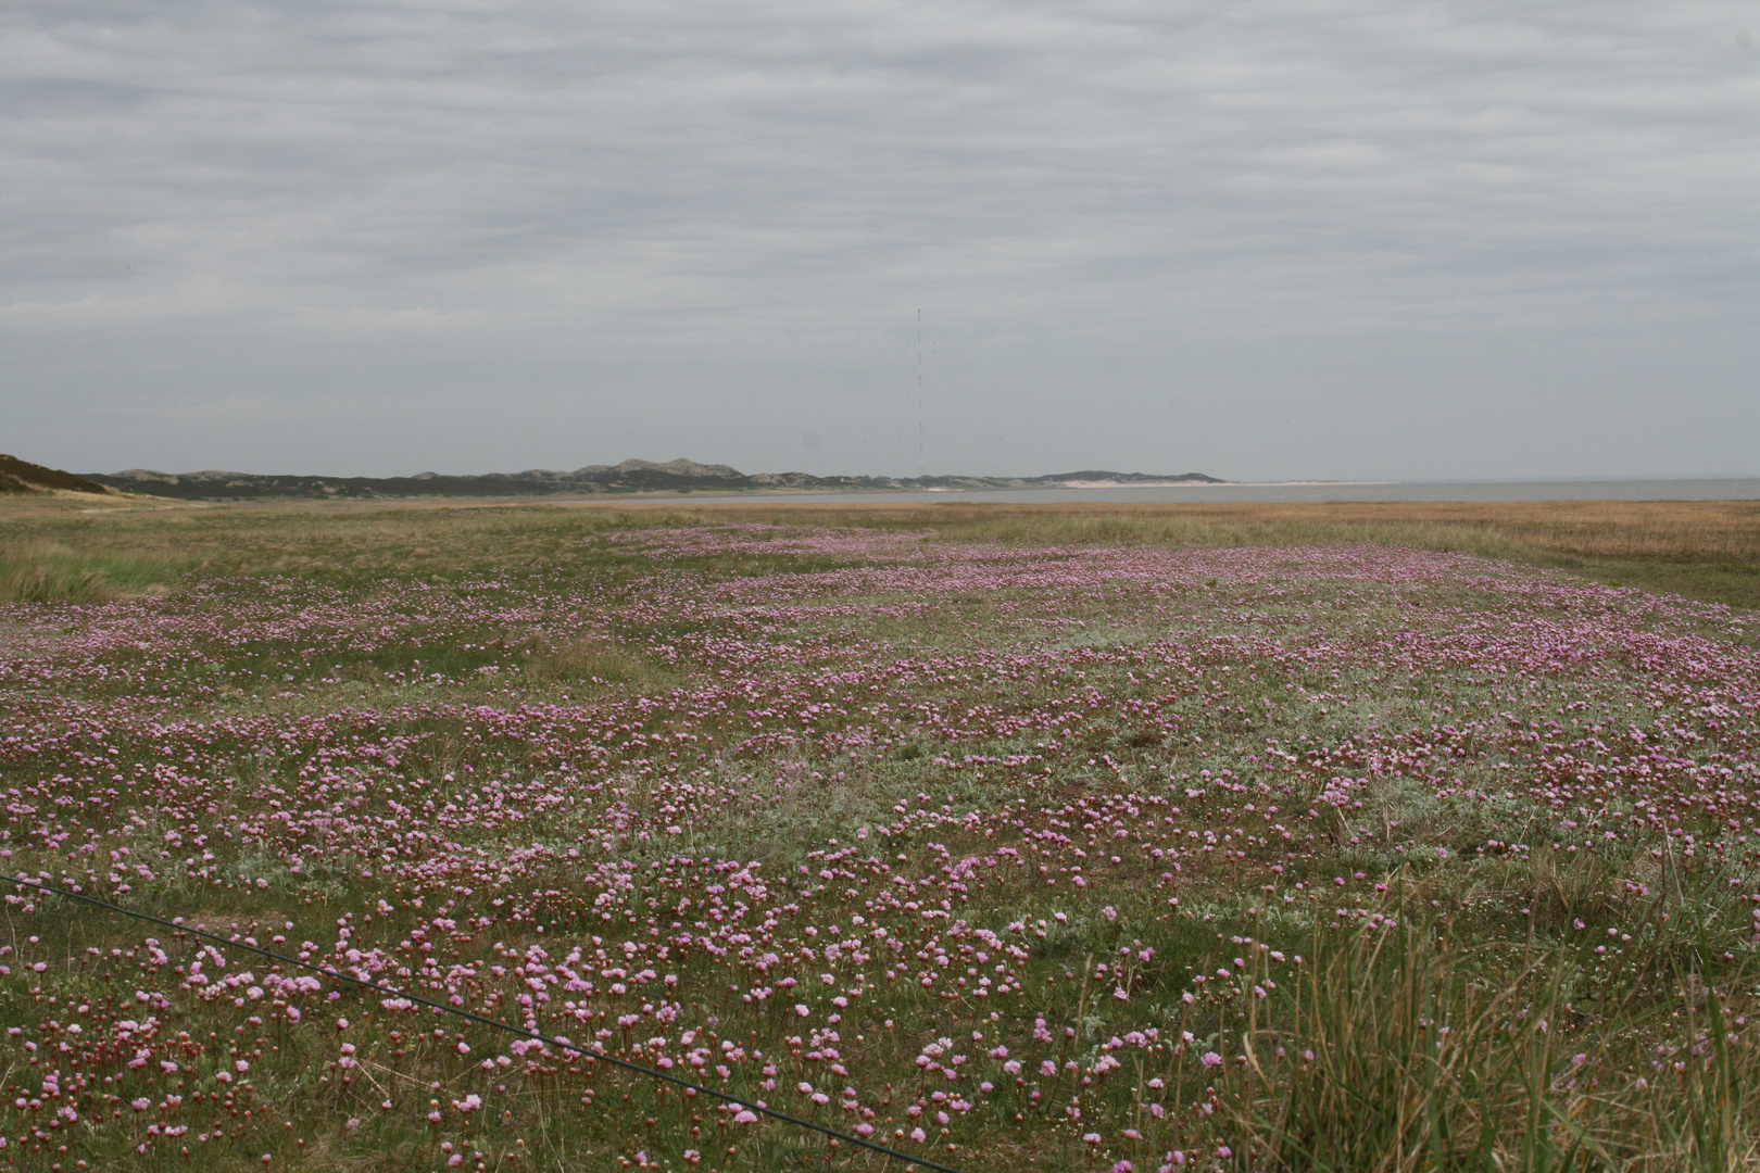
M 1749 1168 L 1760 616 L 581 528 L 0 605 L 0 1168 Z

